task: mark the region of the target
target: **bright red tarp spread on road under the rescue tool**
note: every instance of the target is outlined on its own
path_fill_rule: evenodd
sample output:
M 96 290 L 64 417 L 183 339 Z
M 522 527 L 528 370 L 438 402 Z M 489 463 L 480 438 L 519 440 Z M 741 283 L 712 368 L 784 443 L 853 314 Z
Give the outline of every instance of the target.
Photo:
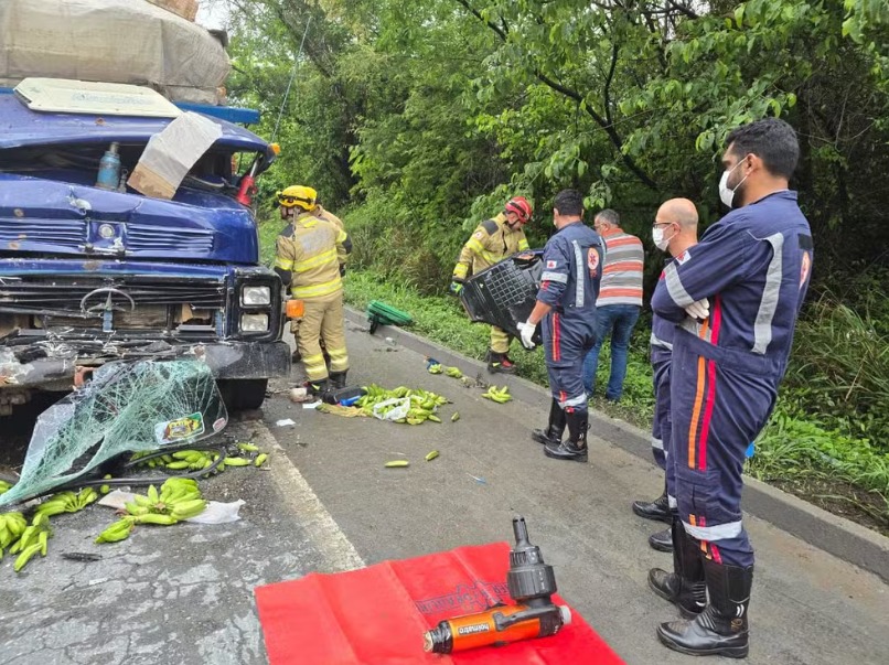
M 571 624 L 551 637 L 450 656 L 425 653 L 422 634 L 439 621 L 497 602 L 512 604 L 505 581 L 508 553 L 506 543 L 493 543 L 258 587 L 269 663 L 624 665 L 574 611 Z

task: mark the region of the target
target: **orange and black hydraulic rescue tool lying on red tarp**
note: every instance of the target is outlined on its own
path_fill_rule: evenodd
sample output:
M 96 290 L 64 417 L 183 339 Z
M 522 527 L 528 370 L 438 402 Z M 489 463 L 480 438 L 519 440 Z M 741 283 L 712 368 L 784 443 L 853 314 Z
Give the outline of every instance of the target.
M 500 604 L 479 614 L 442 621 L 424 635 L 426 652 L 449 654 L 546 637 L 571 622 L 571 611 L 553 602 L 556 592 L 553 567 L 544 564 L 540 548 L 528 541 L 524 517 L 513 518 L 513 533 L 515 547 L 510 553 L 506 586 L 516 604 Z

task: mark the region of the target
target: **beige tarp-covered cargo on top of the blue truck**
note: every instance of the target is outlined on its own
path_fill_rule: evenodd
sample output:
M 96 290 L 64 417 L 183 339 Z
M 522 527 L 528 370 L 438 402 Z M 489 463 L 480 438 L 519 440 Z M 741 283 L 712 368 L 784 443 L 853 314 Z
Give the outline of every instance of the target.
M 129 83 L 222 104 L 229 66 L 206 29 L 146 0 L 0 2 L 0 87 L 26 77 Z

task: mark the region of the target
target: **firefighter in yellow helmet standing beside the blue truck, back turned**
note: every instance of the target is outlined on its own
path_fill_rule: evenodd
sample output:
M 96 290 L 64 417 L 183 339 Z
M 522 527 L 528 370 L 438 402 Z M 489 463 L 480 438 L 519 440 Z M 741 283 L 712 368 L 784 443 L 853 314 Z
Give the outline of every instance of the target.
M 306 305 L 297 343 L 310 389 L 320 395 L 344 387 L 349 371 L 341 265 L 352 242 L 343 228 L 314 214 L 315 199 L 314 190 L 301 185 L 278 193 L 281 217 L 290 224 L 278 236 L 275 271 Z M 330 356 L 330 376 L 319 340 Z

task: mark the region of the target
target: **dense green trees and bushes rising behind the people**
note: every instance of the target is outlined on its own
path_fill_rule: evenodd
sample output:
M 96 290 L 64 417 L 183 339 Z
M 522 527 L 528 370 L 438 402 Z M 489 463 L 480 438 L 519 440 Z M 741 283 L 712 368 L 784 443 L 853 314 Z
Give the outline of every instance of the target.
M 229 94 L 283 149 L 265 193 L 312 184 L 347 212 L 356 267 L 424 294 L 442 292 L 468 232 L 514 193 L 536 205 L 534 244 L 565 186 L 646 242 L 667 197 L 713 223 L 727 132 L 786 119 L 816 262 L 779 410 L 818 429 L 822 449 L 842 441 L 886 464 L 885 0 L 229 3 Z

